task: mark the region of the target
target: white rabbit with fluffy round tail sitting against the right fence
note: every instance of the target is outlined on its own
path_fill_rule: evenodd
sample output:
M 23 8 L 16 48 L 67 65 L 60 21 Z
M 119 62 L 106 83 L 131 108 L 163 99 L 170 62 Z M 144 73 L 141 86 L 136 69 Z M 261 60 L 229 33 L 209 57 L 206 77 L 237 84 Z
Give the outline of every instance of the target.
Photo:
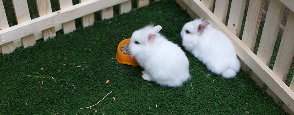
M 182 45 L 211 72 L 224 78 L 234 78 L 240 69 L 240 61 L 226 35 L 212 27 L 208 20 L 195 19 L 184 25 L 181 31 Z

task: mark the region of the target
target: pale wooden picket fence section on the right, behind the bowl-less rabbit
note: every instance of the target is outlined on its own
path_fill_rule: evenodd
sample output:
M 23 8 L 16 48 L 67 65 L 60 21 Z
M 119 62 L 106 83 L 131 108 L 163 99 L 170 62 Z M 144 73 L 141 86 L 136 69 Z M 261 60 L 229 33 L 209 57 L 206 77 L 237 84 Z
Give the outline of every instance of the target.
M 204 20 L 210 20 L 216 29 L 225 33 L 233 43 L 236 54 L 242 61 L 242 70 L 249 71 L 250 68 L 253 71 L 251 78 L 256 81 L 256 84 L 262 87 L 266 83 L 268 86 L 266 92 L 273 97 L 275 102 L 278 102 L 280 98 L 284 102 L 283 109 L 293 114 L 294 79 L 292 79 L 290 87 L 284 82 L 294 55 L 294 1 L 270 0 L 257 55 L 255 55 L 253 49 L 265 1 L 249 1 L 242 40 L 240 40 L 238 36 L 241 30 L 246 0 L 231 1 L 228 26 L 224 23 L 226 21 L 229 0 L 216 0 L 214 13 L 212 13 L 214 0 L 176 0 L 179 6 L 187 9 L 188 14 L 192 18 L 199 16 Z M 290 11 L 275 64 L 273 70 L 271 70 L 268 65 L 275 46 L 285 6 Z

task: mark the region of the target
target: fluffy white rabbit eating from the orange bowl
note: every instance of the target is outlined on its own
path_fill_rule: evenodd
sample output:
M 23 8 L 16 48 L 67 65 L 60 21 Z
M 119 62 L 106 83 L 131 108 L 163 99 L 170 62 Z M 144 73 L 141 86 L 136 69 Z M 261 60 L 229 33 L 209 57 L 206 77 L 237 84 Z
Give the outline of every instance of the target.
M 161 29 L 149 25 L 136 30 L 130 40 L 130 53 L 144 68 L 144 80 L 161 86 L 182 86 L 190 78 L 188 58 L 178 45 L 158 33 Z

